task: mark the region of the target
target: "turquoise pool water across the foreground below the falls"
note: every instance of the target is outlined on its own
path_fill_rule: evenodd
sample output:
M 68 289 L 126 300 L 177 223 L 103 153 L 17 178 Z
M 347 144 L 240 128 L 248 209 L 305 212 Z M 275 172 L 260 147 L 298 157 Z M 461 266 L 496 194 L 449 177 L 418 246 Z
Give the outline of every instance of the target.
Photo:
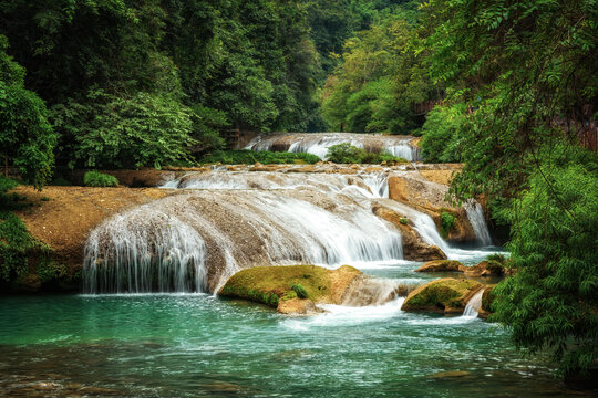
M 371 274 L 430 279 L 417 263 Z M 414 276 L 416 275 L 416 276 Z M 542 358 L 478 318 L 327 306 L 288 317 L 207 294 L 0 301 L 0 395 L 560 397 Z M 442 377 L 462 371 L 461 377 Z

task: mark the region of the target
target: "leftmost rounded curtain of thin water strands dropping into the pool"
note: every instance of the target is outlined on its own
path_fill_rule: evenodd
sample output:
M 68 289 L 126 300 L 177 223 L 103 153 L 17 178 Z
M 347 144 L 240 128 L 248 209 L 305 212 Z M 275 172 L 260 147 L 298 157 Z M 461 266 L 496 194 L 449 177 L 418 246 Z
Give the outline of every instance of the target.
M 85 292 L 202 292 L 205 252 L 193 228 L 142 206 L 92 231 L 84 254 Z

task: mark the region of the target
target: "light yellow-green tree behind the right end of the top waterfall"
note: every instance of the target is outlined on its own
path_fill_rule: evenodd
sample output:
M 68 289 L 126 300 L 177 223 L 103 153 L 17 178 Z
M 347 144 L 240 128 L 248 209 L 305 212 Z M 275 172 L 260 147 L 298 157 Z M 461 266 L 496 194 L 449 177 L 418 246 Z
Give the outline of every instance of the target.
M 417 33 L 402 14 L 389 14 L 344 44 L 342 63 L 321 93 L 331 128 L 408 134 L 419 123 L 414 105 L 433 92 L 413 50 Z

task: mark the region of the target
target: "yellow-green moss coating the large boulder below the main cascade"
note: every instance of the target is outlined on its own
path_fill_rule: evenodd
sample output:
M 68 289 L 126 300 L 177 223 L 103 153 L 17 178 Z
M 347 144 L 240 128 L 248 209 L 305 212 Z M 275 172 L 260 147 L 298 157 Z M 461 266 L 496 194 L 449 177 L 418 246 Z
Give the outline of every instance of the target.
M 351 266 L 343 271 L 360 274 Z M 262 303 L 272 307 L 295 297 L 318 302 L 330 294 L 333 271 L 316 265 L 255 266 L 237 272 L 219 294 Z

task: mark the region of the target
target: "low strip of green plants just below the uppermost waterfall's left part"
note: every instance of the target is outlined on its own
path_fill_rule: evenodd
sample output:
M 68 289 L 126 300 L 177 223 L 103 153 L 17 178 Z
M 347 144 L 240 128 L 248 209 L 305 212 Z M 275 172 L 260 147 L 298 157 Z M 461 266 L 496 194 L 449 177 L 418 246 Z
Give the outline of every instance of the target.
M 321 159 L 312 154 L 306 153 L 277 153 L 277 151 L 252 151 L 252 150 L 215 150 L 199 159 L 200 164 L 224 164 L 224 165 L 300 165 L 320 161 Z

